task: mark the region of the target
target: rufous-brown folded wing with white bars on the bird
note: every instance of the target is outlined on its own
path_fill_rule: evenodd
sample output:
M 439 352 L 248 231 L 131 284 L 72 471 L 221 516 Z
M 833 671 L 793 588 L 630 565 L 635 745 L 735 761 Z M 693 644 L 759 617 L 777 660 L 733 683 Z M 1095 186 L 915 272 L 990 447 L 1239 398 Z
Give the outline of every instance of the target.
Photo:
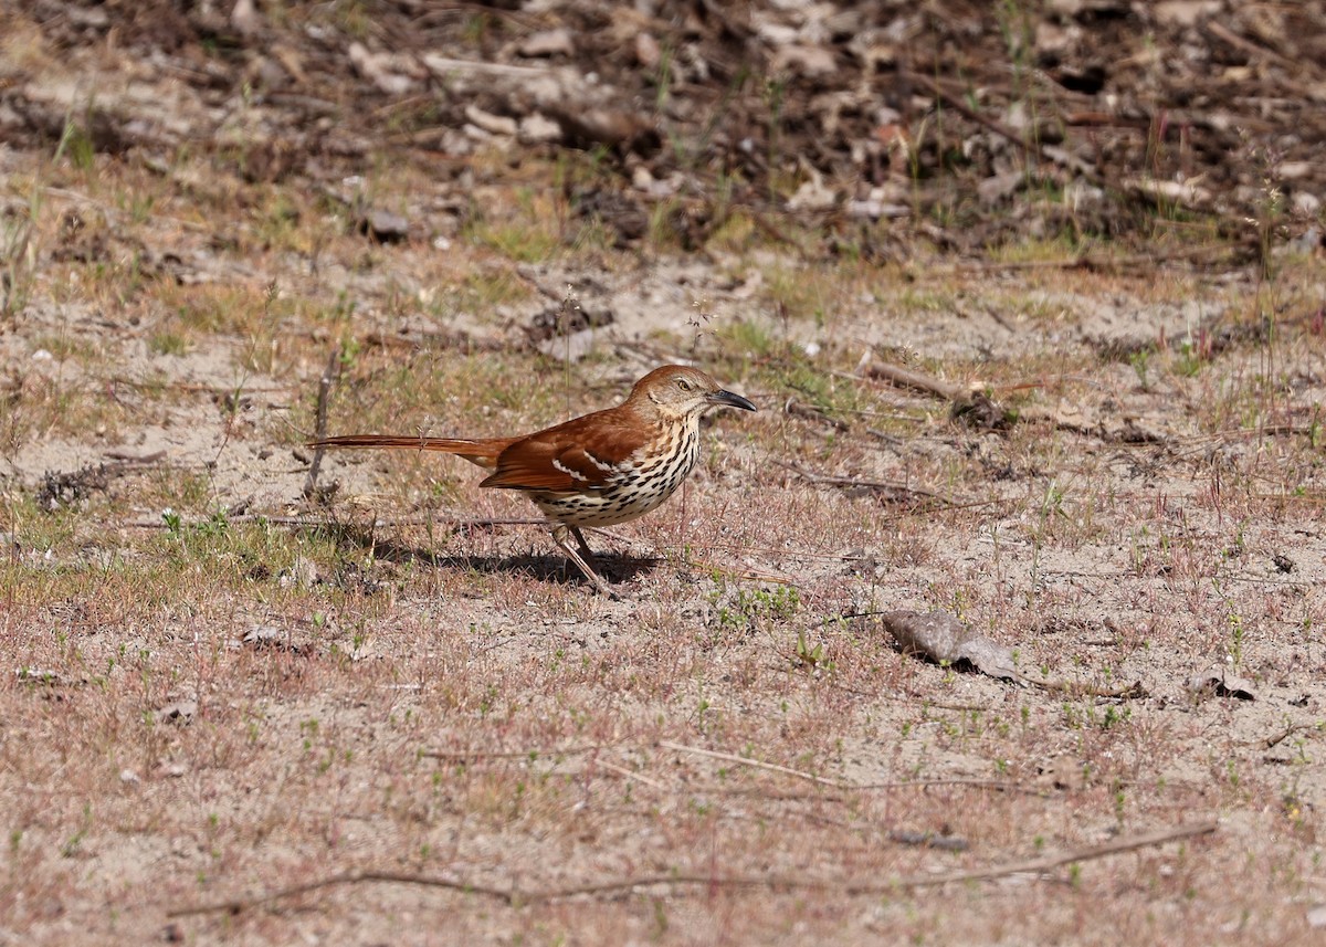
M 610 487 L 621 476 L 619 464 L 648 436 L 639 424 L 625 422 L 617 409 L 609 409 L 522 438 L 497 455 L 497 470 L 480 485 L 548 491 Z

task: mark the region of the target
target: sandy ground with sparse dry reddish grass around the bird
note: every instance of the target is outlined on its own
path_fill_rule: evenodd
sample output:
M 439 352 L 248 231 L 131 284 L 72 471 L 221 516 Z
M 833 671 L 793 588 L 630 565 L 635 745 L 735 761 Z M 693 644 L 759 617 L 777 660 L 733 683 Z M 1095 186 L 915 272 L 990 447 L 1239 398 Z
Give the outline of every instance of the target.
M 182 162 L 180 180 L 210 174 Z M 529 351 L 518 261 L 635 265 L 530 233 L 560 212 L 530 196 L 537 172 L 491 187 L 444 256 L 370 247 L 343 208 L 221 172 L 146 194 L 130 168 L 34 160 L 17 184 L 80 196 L 38 208 L 33 302 L 0 351 L 0 939 L 1306 943 L 1326 899 L 1319 268 L 1280 273 L 1273 337 L 1185 351 L 1144 328 L 1142 366 L 1077 333 L 1093 298 L 1205 293 L 1242 325 L 1254 289 L 727 264 L 760 283 L 719 297 L 697 351 L 762 411 L 716 416 L 684 496 L 594 538 L 623 593 L 607 602 L 538 529 L 481 523 L 530 511 L 460 462 L 334 458 L 332 505 L 298 496 L 292 450 L 333 346 L 334 430 L 483 435 L 606 405 L 696 344 L 660 320 L 625 340 L 643 359 Z M 370 186 L 400 207 L 427 187 Z M 199 221 L 232 192 L 247 210 L 208 225 L 235 237 L 217 243 Z M 168 210 L 117 211 L 101 263 L 52 261 L 58 215 L 117 194 Z M 133 245 L 207 279 L 147 273 Z M 73 328 L 61 306 L 82 306 Z M 855 375 L 871 347 L 989 386 L 1021 423 L 968 430 Z M 1120 418 L 1164 440 L 1119 435 Z M 143 464 L 106 456 L 158 444 Z M 44 463 L 102 460 L 44 501 Z M 1029 678 L 1146 695 L 924 664 L 869 615 L 899 607 L 959 614 Z M 1258 699 L 1193 698 L 1211 664 Z M 1201 838 L 903 883 L 1207 821 Z M 271 897 L 345 873 L 395 879 Z M 652 881 L 479 891 L 631 878 Z M 174 916 L 233 899 L 251 906 Z

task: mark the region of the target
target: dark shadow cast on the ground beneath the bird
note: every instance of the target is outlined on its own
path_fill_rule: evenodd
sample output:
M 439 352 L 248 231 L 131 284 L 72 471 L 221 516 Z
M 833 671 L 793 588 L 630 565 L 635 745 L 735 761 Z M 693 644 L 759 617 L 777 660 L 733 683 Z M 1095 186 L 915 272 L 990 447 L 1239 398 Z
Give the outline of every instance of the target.
M 324 523 L 316 527 L 324 535 L 330 535 L 337 545 L 353 545 L 366 550 L 375 560 L 383 562 L 422 562 L 435 569 L 457 569 L 461 572 L 477 572 L 481 574 L 512 573 L 532 576 L 541 582 L 554 582 L 558 585 L 590 585 L 590 581 L 581 574 L 581 570 L 569 558 L 561 554 L 549 556 L 468 556 L 468 554 L 440 554 L 431 549 L 398 542 L 385 538 L 366 527 L 355 527 L 347 523 Z M 459 531 L 456 531 L 459 532 Z M 610 585 L 627 582 L 635 576 L 654 569 L 662 560 L 635 558 L 617 553 L 594 553 L 598 572 Z

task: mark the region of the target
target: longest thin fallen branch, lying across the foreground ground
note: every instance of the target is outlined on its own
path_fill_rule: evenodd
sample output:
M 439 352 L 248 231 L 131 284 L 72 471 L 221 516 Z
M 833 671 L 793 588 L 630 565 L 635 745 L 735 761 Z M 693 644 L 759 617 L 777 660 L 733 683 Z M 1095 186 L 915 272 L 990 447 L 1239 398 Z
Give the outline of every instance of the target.
M 740 760 L 740 757 L 737 757 Z M 796 771 L 793 771 L 796 772 Z M 239 914 L 240 911 L 261 907 L 277 901 L 293 898 L 312 891 L 320 891 L 338 885 L 358 885 L 362 882 L 382 882 L 389 885 L 416 885 L 422 887 L 436 887 L 460 894 L 476 894 L 492 901 L 499 901 L 511 907 L 525 905 L 564 901 L 577 897 L 605 897 L 630 894 L 642 887 L 667 887 L 676 893 L 679 887 L 700 887 L 708 891 L 723 889 L 729 891 L 740 890 L 784 890 L 784 891 L 830 891 L 846 895 L 862 894 L 891 894 L 903 890 L 918 890 L 926 887 L 941 887 L 964 881 L 992 881 L 1005 878 L 1012 874 L 1045 873 L 1065 865 L 1074 865 L 1086 861 L 1095 861 L 1109 855 L 1135 852 L 1138 849 L 1155 848 L 1168 842 L 1184 841 L 1208 836 L 1216 830 L 1215 822 L 1200 822 L 1176 829 L 1162 829 L 1142 836 L 1116 838 L 1103 845 L 1091 845 L 1083 849 L 1070 849 L 1058 854 L 1041 855 L 1006 865 L 993 865 L 988 867 L 964 869 L 943 874 L 915 874 L 902 875 L 886 881 L 846 881 L 835 878 L 778 878 L 769 875 L 713 875 L 713 874 L 652 874 L 621 881 L 590 882 L 587 885 L 569 885 L 565 887 L 552 887 L 534 891 L 522 891 L 518 887 L 492 887 L 487 885 L 473 885 L 455 878 L 439 878 L 434 875 L 411 874 L 408 871 L 378 871 L 355 870 L 322 878 L 320 881 L 292 885 L 277 889 L 267 894 L 252 898 L 231 898 L 190 907 L 176 907 L 166 913 L 168 918 L 182 918 L 198 914 Z

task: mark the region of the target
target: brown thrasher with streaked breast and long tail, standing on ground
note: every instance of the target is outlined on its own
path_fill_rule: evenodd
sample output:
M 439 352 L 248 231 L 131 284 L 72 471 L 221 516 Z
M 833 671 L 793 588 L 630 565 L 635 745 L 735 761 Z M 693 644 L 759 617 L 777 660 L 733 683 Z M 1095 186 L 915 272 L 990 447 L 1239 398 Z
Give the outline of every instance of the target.
M 700 456 L 700 415 L 720 405 L 754 411 L 703 371 L 664 365 L 635 382 L 617 407 L 520 438 L 346 434 L 310 447 L 442 451 L 491 470 L 479 485 L 524 492 L 548 517 L 553 542 L 609 593 L 579 528 L 634 520 L 672 496 Z M 578 553 L 566 544 L 568 533 Z

